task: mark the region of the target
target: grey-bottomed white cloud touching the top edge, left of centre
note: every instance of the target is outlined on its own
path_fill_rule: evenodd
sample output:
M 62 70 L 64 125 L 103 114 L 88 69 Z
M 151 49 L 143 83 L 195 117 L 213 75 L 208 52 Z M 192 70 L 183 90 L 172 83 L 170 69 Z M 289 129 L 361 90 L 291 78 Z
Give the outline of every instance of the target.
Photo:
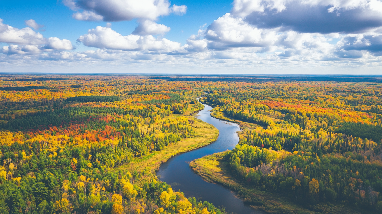
M 168 0 L 65 0 L 65 5 L 77 11 L 73 18 L 84 21 L 155 20 L 170 13 L 184 14 L 185 5 L 170 7 Z

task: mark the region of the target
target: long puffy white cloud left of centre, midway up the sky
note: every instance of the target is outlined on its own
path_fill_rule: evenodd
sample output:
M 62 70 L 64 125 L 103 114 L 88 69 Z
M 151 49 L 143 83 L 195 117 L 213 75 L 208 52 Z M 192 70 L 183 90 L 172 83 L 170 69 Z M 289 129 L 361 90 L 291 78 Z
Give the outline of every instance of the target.
M 181 49 L 181 44 L 168 39 L 156 39 L 152 35 L 126 35 L 113 31 L 110 27 L 96 27 L 88 34 L 81 35 L 78 42 L 89 47 L 113 50 L 147 50 L 171 52 Z

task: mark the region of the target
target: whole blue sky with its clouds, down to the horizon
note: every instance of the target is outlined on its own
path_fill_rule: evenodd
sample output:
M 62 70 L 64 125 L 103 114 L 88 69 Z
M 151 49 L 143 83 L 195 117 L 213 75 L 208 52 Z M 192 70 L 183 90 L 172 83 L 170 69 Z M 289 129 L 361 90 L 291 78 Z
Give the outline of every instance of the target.
M 382 0 L 0 0 L 0 72 L 382 74 Z

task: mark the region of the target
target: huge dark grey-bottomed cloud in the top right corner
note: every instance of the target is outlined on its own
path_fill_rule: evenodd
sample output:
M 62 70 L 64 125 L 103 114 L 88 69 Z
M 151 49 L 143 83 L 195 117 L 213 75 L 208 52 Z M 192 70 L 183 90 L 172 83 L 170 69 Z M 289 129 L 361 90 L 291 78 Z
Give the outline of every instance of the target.
M 231 14 L 259 28 L 357 32 L 382 26 L 379 0 L 235 0 Z

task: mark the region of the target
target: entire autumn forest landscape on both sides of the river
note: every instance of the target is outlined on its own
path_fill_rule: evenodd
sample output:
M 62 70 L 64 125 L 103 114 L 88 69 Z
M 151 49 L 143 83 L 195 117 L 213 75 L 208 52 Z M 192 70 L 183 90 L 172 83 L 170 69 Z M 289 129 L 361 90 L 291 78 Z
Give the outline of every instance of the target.
M 309 78 L 1 76 L 0 213 L 227 213 L 155 173 L 162 151 L 216 140 L 197 97 L 241 127 L 221 158 L 237 182 L 312 213 L 382 212 L 380 80 Z

